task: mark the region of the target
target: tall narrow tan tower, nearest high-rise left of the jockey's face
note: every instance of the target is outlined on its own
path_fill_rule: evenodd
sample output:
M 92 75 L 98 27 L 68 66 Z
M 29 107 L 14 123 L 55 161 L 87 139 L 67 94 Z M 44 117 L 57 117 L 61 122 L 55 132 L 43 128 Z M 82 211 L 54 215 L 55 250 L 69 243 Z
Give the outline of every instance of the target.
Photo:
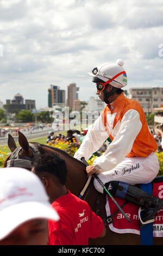
M 79 87 L 76 87 L 76 83 L 70 83 L 67 86 L 67 106 L 73 109 L 74 107 L 74 100 L 78 99 L 78 92 Z

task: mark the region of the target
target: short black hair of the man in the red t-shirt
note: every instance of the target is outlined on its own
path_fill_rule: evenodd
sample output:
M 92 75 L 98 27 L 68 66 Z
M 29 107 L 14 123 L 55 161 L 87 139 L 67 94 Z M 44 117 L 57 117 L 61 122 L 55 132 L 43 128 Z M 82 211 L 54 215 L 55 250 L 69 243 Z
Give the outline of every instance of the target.
M 43 154 L 32 161 L 35 174 L 42 176 L 43 173 L 51 173 L 56 176 L 60 184 L 65 185 L 67 180 L 66 162 L 57 153 Z

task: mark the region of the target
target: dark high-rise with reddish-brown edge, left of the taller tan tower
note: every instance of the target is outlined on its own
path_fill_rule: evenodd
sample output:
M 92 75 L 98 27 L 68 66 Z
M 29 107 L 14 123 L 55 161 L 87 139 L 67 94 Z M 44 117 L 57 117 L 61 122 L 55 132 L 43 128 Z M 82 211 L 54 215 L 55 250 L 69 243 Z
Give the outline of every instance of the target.
M 48 107 L 53 107 L 56 103 L 65 103 L 65 90 L 51 84 L 51 88 L 48 89 Z

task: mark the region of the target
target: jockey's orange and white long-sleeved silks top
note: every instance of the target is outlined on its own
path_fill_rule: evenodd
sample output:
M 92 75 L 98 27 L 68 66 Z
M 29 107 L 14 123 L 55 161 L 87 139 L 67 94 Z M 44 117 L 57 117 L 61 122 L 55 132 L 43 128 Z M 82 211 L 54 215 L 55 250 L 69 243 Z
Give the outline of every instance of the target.
M 89 126 L 74 157 L 80 160 L 84 156 L 87 161 L 108 137 L 112 142 L 93 162 L 95 169 L 103 172 L 115 168 L 124 157 L 147 157 L 158 147 L 139 102 L 128 99 L 123 93 Z

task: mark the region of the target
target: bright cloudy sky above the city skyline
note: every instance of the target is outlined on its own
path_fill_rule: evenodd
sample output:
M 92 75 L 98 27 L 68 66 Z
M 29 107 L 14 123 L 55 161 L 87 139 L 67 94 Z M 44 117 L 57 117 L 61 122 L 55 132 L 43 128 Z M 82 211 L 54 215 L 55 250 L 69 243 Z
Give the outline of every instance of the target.
M 50 84 L 96 96 L 87 74 L 124 61 L 128 85 L 163 86 L 162 0 L 0 0 L 0 100 L 48 106 Z

